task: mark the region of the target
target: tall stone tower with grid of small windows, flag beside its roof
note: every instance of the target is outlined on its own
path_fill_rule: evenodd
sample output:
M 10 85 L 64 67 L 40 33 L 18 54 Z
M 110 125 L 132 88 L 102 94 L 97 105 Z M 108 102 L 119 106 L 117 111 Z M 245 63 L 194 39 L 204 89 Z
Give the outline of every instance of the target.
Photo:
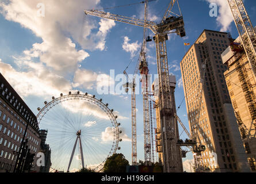
M 180 63 L 190 133 L 205 146 L 193 154 L 201 172 L 250 171 L 221 61 L 230 40 L 228 33 L 204 30 Z

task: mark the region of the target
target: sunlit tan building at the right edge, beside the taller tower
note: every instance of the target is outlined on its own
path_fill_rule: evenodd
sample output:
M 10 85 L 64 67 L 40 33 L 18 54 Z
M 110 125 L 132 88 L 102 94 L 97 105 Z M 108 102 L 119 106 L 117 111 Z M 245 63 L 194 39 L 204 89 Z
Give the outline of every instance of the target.
M 224 76 L 251 171 L 256 172 L 256 76 L 240 37 L 222 53 Z

